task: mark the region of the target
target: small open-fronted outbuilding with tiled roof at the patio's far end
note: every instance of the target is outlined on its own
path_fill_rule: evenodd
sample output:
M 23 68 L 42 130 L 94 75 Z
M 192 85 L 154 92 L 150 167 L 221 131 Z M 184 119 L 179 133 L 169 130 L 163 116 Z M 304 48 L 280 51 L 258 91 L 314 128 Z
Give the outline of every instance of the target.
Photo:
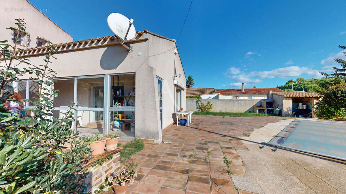
M 280 106 L 282 115 L 315 118 L 315 104 L 320 98 L 319 94 L 305 91 L 269 91 L 268 97 Z M 301 105 L 301 108 L 299 107 Z

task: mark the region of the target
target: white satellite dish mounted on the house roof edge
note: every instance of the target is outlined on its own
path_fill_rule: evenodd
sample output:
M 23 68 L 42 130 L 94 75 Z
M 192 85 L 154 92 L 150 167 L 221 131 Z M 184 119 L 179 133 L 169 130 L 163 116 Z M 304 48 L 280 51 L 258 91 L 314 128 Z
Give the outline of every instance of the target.
M 107 18 L 110 30 L 112 30 L 115 36 L 118 37 L 121 45 L 125 46 L 127 49 L 131 48 L 124 45 L 124 42 L 133 39 L 136 36 L 136 29 L 132 22 L 133 19 L 129 20 L 120 13 L 111 13 Z

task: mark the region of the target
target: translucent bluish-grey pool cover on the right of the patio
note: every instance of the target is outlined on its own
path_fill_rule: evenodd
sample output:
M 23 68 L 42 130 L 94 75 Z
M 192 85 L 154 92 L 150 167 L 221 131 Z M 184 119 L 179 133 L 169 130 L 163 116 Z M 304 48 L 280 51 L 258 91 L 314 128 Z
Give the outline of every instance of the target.
M 295 119 L 262 144 L 346 161 L 346 123 Z

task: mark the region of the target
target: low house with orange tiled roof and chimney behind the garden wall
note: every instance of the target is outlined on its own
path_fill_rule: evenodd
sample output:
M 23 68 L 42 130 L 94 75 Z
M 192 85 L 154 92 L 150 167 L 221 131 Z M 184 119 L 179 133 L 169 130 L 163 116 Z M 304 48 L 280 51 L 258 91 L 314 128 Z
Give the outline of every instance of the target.
M 269 90 L 273 92 L 284 91 L 279 88 L 256 88 L 256 86 L 254 88 L 244 88 L 244 84 L 242 84 L 242 88 L 215 89 L 216 93 L 220 95 L 239 96 L 237 99 L 266 99 Z

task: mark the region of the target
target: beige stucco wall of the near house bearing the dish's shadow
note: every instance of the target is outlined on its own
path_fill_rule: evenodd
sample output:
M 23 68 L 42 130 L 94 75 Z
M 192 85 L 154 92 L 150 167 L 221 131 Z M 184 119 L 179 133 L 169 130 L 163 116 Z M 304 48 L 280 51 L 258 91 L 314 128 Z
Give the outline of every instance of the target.
M 57 77 L 135 72 L 136 138 L 151 139 L 159 143 L 162 140 L 162 128 L 156 76 L 163 78 L 163 128 L 172 124 L 175 118 L 173 80 L 184 84 L 186 78 L 179 54 L 174 55 L 175 42 L 149 34 L 144 34 L 141 38 L 146 37 L 149 40 L 130 44 L 133 46 L 131 53 L 121 45 L 58 52 L 54 55 L 57 60 L 53 60 L 51 68 L 57 72 Z M 110 44 L 116 42 L 118 41 L 115 39 L 108 41 Z M 44 55 L 26 58 L 31 64 L 44 65 Z M 174 77 L 174 63 L 177 77 Z M 28 76 L 25 75 L 22 79 L 28 79 Z M 185 91 L 182 91 L 182 99 L 182 107 L 185 109 Z

